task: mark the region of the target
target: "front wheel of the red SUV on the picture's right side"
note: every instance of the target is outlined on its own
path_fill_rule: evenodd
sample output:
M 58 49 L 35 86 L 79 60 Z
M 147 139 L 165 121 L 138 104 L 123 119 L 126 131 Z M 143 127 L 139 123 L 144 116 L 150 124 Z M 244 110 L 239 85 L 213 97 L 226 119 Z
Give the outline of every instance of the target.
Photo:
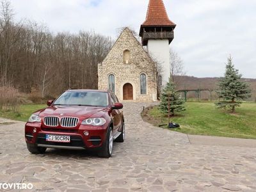
M 113 152 L 113 141 L 114 141 L 113 129 L 109 127 L 106 141 L 102 149 L 98 153 L 99 157 L 105 157 L 105 158 L 111 157 Z

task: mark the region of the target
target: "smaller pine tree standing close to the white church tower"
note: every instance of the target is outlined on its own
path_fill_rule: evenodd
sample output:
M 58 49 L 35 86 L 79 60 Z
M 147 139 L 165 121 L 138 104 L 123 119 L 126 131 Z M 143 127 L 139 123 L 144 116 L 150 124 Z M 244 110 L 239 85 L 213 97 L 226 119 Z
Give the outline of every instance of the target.
M 169 80 L 161 93 L 159 109 L 162 113 L 168 114 L 168 94 L 170 95 L 170 113 L 172 115 L 175 115 L 176 112 L 186 110 L 184 107 L 184 100 L 179 98 L 179 94 L 175 90 L 175 84 Z

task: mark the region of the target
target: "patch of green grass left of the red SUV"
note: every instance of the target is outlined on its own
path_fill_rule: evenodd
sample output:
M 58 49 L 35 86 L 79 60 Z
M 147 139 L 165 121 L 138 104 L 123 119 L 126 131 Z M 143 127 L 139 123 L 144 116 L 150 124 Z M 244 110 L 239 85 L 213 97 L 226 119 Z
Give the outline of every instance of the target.
M 37 111 L 38 109 L 46 108 L 45 104 L 29 104 L 29 105 L 21 105 L 18 111 L 0 111 L 0 116 L 4 118 L 10 118 L 12 120 L 19 120 L 22 122 L 26 122 L 29 116 Z

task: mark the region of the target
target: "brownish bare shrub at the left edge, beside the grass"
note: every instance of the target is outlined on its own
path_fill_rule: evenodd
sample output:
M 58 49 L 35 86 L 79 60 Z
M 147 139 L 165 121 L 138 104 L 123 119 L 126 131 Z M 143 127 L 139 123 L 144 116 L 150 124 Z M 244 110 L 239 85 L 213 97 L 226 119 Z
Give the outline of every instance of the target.
M 19 91 L 12 86 L 0 86 L 0 109 L 16 111 L 19 107 Z

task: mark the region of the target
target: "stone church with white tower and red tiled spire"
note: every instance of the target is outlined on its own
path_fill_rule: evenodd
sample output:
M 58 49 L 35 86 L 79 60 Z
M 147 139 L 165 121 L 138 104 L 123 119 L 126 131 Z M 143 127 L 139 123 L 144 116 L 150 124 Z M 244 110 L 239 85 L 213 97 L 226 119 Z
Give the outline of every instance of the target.
M 141 43 L 129 28 L 122 31 L 98 65 L 99 90 L 111 90 L 120 100 L 157 101 L 157 87 L 170 77 L 169 45 L 174 28 L 163 0 L 150 0 L 140 28 Z M 161 73 L 157 72 L 159 65 Z

